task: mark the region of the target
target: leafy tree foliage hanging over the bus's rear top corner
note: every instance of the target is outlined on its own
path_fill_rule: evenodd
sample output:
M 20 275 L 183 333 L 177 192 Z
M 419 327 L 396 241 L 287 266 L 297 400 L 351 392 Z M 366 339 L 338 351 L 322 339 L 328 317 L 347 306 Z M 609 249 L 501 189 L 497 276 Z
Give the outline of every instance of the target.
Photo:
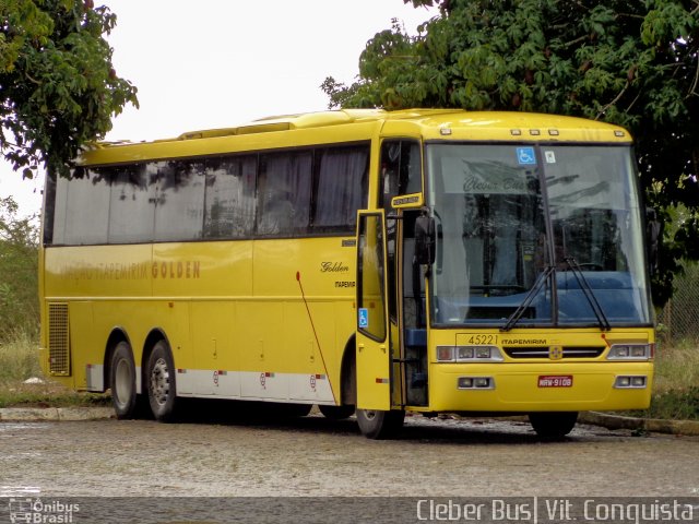
M 104 38 L 116 16 L 93 0 L 0 2 L 0 151 L 32 177 L 68 175 L 85 143 L 104 138 L 137 88 L 117 76 Z

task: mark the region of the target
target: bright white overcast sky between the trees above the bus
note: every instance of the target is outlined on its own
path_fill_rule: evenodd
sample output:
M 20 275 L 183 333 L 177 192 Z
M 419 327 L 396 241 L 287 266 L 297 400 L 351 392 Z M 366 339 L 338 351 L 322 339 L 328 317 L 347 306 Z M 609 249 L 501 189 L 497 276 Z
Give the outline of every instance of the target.
M 398 19 L 410 34 L 437 14 L 403 0 L 104 0 L 117 74 L 139 90 L 106 140 L 177 136 L 328 108 L 327 76 L 352 83 L 366 43 Z M 0 198 L 22 215 L 42 206 L 44 179 L 0 160 Z

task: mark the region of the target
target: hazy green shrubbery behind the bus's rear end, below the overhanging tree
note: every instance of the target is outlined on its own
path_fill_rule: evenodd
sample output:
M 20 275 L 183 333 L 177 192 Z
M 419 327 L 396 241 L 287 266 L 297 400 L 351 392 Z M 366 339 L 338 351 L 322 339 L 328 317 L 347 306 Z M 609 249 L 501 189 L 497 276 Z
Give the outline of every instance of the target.
M 39 323 L 36 217 L 17 217 L 12 198 L 0 199 L 0 342 L 35 335 Z

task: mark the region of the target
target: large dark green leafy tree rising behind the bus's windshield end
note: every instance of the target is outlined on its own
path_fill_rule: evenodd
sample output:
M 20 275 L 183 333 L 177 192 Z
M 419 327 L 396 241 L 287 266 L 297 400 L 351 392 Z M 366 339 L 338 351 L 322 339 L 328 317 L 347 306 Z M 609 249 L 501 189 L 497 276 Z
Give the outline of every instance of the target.
M 404 0 L 439 5 L 408 36 L 378 33 L 352 85 L 325 80 L 330 106 L 460 107 L 581 116 L 636 139 L 647 202 L 667 235 L 653 293 L 699 258 L 699 0 Z

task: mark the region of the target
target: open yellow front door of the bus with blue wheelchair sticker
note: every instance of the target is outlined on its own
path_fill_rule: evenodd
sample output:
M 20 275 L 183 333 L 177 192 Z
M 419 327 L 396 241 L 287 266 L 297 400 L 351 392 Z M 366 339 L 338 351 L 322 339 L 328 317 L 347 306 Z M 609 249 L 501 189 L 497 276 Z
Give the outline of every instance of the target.
M 391 409 L 391 329 L 383 210 L 360 212 L 357 229 L 357 408 Z

